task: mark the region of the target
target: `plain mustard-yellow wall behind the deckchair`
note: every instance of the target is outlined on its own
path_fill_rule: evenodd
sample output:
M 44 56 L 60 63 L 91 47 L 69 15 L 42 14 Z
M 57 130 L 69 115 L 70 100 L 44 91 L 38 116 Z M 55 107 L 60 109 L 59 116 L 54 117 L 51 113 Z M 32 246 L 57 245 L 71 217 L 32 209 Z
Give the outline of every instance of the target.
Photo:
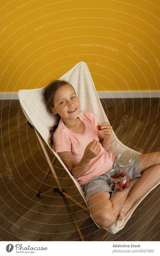
M 97 91 L 158 90 L 160 2 L 149 2 L 1 1 L 0 91 L 47 86 L 80 61 Z

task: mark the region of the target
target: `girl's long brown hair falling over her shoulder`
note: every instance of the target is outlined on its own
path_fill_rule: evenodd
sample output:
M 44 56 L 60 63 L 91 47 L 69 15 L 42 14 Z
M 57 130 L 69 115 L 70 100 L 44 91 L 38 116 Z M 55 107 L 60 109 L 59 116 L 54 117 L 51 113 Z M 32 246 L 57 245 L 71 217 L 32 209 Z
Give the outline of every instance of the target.
M 67 84 L 73 88 L 73 86 L 66 80 L 54 80 L 50 84 L 48 84 L 47 87 L 44 88 L 43 95 L 44 95 L 44 98 L 46 99 L 45 106 L 47 107 L 47 111 L 50 113 L 51 116 L 54 115 L 52 112 L 52 109 L 51 109 L 51 107 L 54 108 L 54 105 L 53 105 L 54 95 L 58 90 L 60 90 L 60 88 L 62 88 L 63 86 L 65 86 Z M 73 88 L 73 90 L 74 90 L 74 88 Z M 75 90 L 74 90 L 74 92 L 75 92 Z M 55 151 L 55 149 L 54 149 L 54 144 L 53 144 L 53 134 L 54 134 L 56 128 L 58 127 L 59 121 L 61 120 L 61 116 L 58 113 L 56 114 L 56 117 L 57 117 L 57 125 L 50 127 L 50 135 L 49 135 L 49 139 L 48 139 L 48 144 L 54 151 Z

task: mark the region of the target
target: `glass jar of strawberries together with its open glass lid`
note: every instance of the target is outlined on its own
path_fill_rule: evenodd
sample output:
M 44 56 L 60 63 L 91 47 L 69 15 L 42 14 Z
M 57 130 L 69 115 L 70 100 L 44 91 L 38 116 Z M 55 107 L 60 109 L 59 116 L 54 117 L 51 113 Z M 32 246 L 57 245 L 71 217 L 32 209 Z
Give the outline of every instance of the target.
M 127 150 L 117 157 L 118 167 L 111 168 L 108 172 L 108 183 L 112 191 L 124 191 L 130 185 L 126 167 L 134 163 L 134 154 Z

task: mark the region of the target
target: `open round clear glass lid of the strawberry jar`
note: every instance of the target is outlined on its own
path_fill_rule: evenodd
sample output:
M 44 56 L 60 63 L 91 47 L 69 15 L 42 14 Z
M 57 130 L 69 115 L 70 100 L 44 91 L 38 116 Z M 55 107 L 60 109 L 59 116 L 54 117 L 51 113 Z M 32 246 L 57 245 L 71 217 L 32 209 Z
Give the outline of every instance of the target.
M 130 150 L 120 153 L 117 157 L 117 163 L 119 166 L 122 166 L 122 167 L 129 166 L 133 162 L 134 162 L 134 154 Z

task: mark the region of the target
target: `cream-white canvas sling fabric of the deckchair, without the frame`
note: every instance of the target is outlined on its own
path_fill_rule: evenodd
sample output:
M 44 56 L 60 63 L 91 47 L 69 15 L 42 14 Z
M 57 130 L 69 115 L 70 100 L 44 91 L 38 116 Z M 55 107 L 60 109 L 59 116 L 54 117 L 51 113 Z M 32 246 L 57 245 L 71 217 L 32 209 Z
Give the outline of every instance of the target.
M 99 116 L 99 123 L 109 122 L 104 112 L 104 109 L 101 105 L 99 96 L 97 94 L 95 85 L 93 83 L 91 74 L 88 69 L 88 66 L 85 62 L 82 61 L 77 63 L 73 68 L 71 68 L 71 70 L 69 70 L 66 74 L 64 74 L 62 77 L 59 78 L 59 80 L 63 80 L 63 79 L 70 82 L 74 87 L 77 97 L 80 101 L 80 106 L 81 106 L 80 111 L 94 112 Z M 56 123 L 56 117 L 54 115 L 52 117 L 47 112 L 47 109 L 45 106 L 46 102 L 42 96 L 42 92 L 44 88 L 45 87 L 38 88 L 38 89 L 31 89 L 31 90 L 19 90 L 18 98 L 20 100 L 22 110 L 27 120 L 31 123 L 31 125 L 33 125 L 36 128 L 39 134 L 41 134 L 41 137 L 49 146 L 48 144 L 49 127 L 57 125 L 57 123 Z M 139 152 L 132 150 L 131 148 L 122 144 L 121 141 L 119 141 L 118 138 L 116 137 L 114 131 L 111 136 L 111 141 L 112 141 L 112 144 L 109 150 L 115 156 L 118 156 L 119 153 L 122 153 L 125 150 L 131 150 L 134 153 L 140 154 Z M 59 157 L 58 153 L 54 152 L 51 148 L 50 150 L 58 158 L 62 166 L 66 169 L 66 171 L 68 172 L 68 175 L 71 177 L 77 189 L 79 190 L 80 194 L 82 195 L 84 201 L 86 202 L 85 193 L 82 190 L 80 184 L 74 179 L 74 177 L 68 171 L 67 167 Z M 106 229 L 111 234 L 115 234 L 116 232 L 121 230 L 125 226 L 126 222 L 129 220 L 129 218 L 131 217 L 133 211 L 136 209 L 138 204 L 140 204 L 143 198 L 145 198 L 146 195 L 152 189 L 154 189 L 159 183 L 160 182 L 158 182 L 156 185 L 150 188 L 145 194 L 143 194 L 143 196 L 139 198 L 139 200 L 137 200 L 134 206 L 128 211 L 128 213 L 121 220 L 117 220 L 116 223 L 113 224 L 113 226 L 104 228 L 104 229 Z M 91 215 L 91 218 L 93 220 L 92 215 Z M 96 226 L 98 225 L 96 224 Z

